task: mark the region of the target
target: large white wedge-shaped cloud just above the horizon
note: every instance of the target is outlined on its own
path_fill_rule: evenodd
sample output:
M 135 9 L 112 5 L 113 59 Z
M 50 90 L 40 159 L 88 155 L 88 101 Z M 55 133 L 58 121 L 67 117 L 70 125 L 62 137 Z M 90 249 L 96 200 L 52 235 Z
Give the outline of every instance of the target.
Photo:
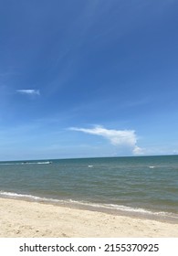
M 96 126 L 91 129 L 71 127 L 69 130 L 99 135 L 108 139 L 110 144 L 130 148 L 133 155 L 143 154 L 143 150 L 137 145 L 137 136 L 134 130 L 110 130 L 102 126 Z

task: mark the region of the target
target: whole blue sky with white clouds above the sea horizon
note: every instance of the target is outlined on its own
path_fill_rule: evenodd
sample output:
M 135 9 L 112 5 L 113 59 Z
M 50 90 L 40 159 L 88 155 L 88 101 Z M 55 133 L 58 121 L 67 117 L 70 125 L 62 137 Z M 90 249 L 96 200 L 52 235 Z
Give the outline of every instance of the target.
M 0 0 L 0 160 L 178 153 L 176 0 Z

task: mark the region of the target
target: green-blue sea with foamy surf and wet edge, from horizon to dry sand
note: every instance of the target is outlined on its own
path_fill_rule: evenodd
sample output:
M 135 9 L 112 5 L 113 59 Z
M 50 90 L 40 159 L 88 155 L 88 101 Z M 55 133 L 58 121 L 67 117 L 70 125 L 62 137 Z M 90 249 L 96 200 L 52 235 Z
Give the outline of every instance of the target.
M 0 197 L 178 222 L 178 156 L 0 162 Z

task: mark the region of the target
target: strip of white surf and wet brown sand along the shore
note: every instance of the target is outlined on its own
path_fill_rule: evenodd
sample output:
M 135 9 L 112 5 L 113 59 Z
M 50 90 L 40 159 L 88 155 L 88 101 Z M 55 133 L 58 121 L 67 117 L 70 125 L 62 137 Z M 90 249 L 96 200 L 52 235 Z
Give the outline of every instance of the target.
M 160 222 L 178 224 L 178 214 L 171 212 L 151 211 L 149 209 L 144 208 L 131 208 L 127 206 L 76 201 L 72 199 L 64 200 L 57 198 L 38 197 L 31 195 L 16 194 L 11 192 L 5 192 L 5 195 L 3 195 L 3 193 L 0 193 L 0 198 L 21 200 L 32 203 L 42 203 L 45 205 L 54 205 L 62 208 L 64 207 L 80 210 L 89 210 L 92 212 L 106 213 L 114 216 L 123 216 L 136 219 L 151 219 L 158 220 Z

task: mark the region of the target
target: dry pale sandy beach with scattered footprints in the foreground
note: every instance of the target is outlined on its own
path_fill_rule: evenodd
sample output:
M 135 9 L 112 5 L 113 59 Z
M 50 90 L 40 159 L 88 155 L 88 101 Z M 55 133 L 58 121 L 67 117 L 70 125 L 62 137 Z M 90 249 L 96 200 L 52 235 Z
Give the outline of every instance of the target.
M 178 224 L 0 198 L 1 238 L 177 238 Z

